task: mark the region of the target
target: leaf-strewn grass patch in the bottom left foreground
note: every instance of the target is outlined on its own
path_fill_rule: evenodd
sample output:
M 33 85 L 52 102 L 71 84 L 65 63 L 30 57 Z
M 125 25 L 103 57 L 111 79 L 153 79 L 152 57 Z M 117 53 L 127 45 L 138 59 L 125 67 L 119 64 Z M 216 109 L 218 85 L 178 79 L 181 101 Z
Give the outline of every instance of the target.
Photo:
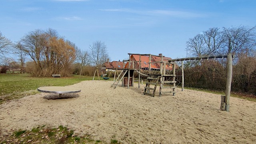
M 102 144 L 101 140 L 93 140 L 92 136 L 76 136 L 73 130 L 64 126 L 58 128 L 47 128 L 38 126 L 31 130 L 18 130 L 10 136 L 0 135 L 0 144 Z M 115 140 L 115 143 L 118 141 Z

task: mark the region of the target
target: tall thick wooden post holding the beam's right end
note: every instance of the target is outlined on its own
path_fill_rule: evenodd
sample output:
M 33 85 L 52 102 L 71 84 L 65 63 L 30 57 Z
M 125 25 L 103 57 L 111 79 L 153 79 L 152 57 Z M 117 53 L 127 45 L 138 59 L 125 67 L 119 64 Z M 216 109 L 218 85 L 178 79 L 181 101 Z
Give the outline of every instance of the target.
M 229 99 L 230 99 L 230 92 L 231 92 L 231 82 L 232 82 L 232 54 L 228 53 L 228 76 L 226 82 L 226 96 L 225 96 L 225 110 L 229 112 Z

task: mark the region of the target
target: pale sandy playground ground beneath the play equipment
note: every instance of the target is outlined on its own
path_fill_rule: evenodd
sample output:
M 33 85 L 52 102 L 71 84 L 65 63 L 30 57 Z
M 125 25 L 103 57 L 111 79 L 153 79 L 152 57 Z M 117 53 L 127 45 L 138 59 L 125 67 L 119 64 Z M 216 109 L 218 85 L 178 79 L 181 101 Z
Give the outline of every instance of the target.
M 95 140 L 130 144 L 256 144 L 256 102 L 177 89 L 176 96 L 150 97 L 142 89 L 110 88 L 110 81 L 83 81 L 77 94 L 40 93 L 0 105 L 2 134 L 36 126 L 67 126 Z M 136 86 L 136 85 L 135 85 Z M 158 95 L 158 94 L 156 94 Z

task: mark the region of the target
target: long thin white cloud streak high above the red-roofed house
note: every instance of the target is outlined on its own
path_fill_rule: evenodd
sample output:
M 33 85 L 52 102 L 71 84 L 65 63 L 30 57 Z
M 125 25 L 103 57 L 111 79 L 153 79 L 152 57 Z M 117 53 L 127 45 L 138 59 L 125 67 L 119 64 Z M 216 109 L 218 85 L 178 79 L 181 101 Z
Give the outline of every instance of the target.
M 153 15 L 153 16 L 173 16 L 173 17 L 183 17 L 183 18 L 197 18 L 206 17 L 206 14 L 200 14 L 195 12 L 186 11 L 175 11 L 175 10 L 132 10 L 132 9 L 100 9 L 101 11 L 107 12 L 129 12 L 136 13 L 140 15 Z

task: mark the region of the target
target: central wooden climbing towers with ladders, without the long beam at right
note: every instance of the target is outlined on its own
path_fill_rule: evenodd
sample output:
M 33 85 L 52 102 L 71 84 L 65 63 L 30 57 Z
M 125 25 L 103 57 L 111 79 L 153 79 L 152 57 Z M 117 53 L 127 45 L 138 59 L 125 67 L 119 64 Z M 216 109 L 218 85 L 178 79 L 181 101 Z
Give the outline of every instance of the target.
M 138 61 L 131 60 L 131 56 L 136 55 L 139 56 Z M 141 73 L 141 56 L 148 56 L 148 62 L 144 62 L 148 64 L 148 74 Z M 152 56 L 159 57 L 160 61 L 152 61 Z M 138 72 L 138 88 L 140 88 L 140 76 L 147 76 L 146 86 L 144 87 L 144 94 L 148 96 L 155 96 L 156 87 L 160 81 L 160 92 L 159 96 L 162 94 L 173 94 L 175 95 L 175 62 L 168 62 L 164 60 L 164 56 L 160 55 L 152 55 L 152 54 L 130 54 L 129 53 L 129 60 L 124 60 L 123 62 L 127 62 L 126 66 L 122 72 L 118 75 L 112 87 L 116 88 L 118 83 L 122 80 L 122 86 L 134 86 L 134 73 Z M 159 68 L 151 68 L 152 65 L 158 64 Z M 171 70 L 166 70 L 166 68 L 172 68 Z M 154 69 L 154 70 L 153 70 Z M 168 72 L 167 72 L 168 71 Z M 165 92 L 163 91 L 165 90 Z

